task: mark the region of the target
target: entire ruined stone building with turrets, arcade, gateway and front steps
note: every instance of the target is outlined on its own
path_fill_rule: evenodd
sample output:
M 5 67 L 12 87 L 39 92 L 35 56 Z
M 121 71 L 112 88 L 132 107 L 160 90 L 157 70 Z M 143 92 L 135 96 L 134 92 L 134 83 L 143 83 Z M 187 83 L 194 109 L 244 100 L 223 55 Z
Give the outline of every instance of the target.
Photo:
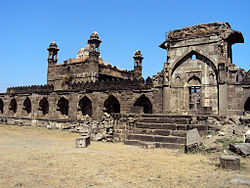
M 0 94 L 0 120 L 72 128 L 111 114 L 115 140 L 183 148 L 186 130 L 208 129 L 208 116 L 250 111 L 250 71 L 232 63 L 232 45 L 244 38 L 228 23 L 169 32 L 160 45 L 168 51 L 163 70 L 146 80 L 139 50 L 134 70 L 123 70 L 102 60 L 101 42 L 92 33 L 76 58 L 62 64 L 57 64 L 59 48 L 52 42 L 47 85 L 8 88 Z

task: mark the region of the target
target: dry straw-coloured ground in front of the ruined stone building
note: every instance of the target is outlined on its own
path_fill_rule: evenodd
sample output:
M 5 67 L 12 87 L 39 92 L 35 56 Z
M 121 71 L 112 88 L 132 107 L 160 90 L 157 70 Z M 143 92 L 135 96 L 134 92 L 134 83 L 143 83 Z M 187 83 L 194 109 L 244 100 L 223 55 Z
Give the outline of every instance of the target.
M 0 125 L 0 187 L 247 187 L 230 180 L 250 178 L 218 167 L 220 154 L 184 154 L 122 143 L 91 142 L 75 148 L 78 134 Z

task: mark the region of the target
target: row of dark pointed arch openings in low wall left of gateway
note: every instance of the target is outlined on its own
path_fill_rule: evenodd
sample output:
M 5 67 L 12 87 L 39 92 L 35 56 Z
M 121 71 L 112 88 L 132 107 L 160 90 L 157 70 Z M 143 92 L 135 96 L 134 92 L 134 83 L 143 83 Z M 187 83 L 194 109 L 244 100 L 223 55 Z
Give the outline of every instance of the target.
M 80 99 L 79 103 L 79 111 L 83 116 L 88 115 L 92 117 L 93 114 L 93 102 L 87 97 L 84 96 Z M 104 111 L 111 114 L 111 113 L 120 113 L 120 102 L 119 100 L 110 95 L 104 102 Z M 152 103 L 148 97 L 144 94 L 141 95 L 133 104 L 133 106 L 141 106 L 143 108 L 144 113 L 152 113 Z M 32 103 L 29 97 L 23 102 L 22 110 L 25 112 L 25 115 L 29 115 L 32 111 Z M 12 98 L 9 103 L 9 111 L 12 114 L 17 112 L 17 101 L 15 98 Z M 38 111 L 41 112 L 42 116 L 45 116 L 49 113 L 49 101 L 46 97 L 43 97 L 39 101 Z M 65 97 L 61 97 L 57 102 L 57 111 L 60 112 L 61 115 L 68 116 L 69 115 L 69 100 Z M 0 98 L 0 113 L 4 113 L 4 102 Z

